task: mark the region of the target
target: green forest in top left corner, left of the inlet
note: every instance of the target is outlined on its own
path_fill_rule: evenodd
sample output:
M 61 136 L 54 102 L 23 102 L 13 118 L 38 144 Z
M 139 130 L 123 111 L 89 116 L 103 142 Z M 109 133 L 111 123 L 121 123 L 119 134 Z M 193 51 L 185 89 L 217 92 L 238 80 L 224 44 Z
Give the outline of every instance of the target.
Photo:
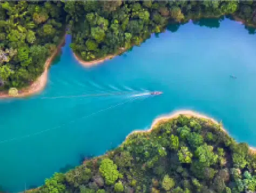
M 42 74 L 46 58 L 64 34 L 63 6 L 60 2 L 0 2 L 2 89 L 24 87 Z

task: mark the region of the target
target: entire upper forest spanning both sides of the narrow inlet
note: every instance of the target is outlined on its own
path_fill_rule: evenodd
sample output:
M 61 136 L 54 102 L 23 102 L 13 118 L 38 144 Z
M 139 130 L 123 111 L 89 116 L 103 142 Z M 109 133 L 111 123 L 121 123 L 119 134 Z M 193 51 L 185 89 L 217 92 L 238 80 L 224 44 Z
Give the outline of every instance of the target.
M 0 2 L 0 91 L 9 89 L 9 94 L 15 96 L 18 89 L 35 82 L 65 30 L 72 35 L 70 47 L 77 58 L 84 62 L 103 61 L 140 45 L 151 33 L 160 33 L 166 27 L 175 32 L 190 19 L 204 25 L 197 19 L 224 15 L 254 26 L 256 2 Z M 169 23 L 176 25 L 168 28 Z

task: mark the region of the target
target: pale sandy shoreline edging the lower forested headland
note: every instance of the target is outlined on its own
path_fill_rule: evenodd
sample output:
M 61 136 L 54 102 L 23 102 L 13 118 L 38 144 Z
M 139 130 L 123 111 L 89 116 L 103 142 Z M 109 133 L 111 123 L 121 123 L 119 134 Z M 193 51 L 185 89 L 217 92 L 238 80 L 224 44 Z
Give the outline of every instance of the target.
M 203 119 L 210 120 L 214 124 L 218 124 L 218 125 L 220 124 L 217 120 L 214 120 L 213 118 L 207 117 L 206 115 L 200 114 L 200 113 L 198 113 L 196 111 L 178 110 L 178 111 L 174 111 L 174 112 L 172 112 L 172 113 L 170 113 L 168 115 L 159 116 L 156 119 L 154 119 L 149 130 L 134 130 L 134 131 L 132 131 L 130 134 L 128 134 L 126 136 L 125 140 L 127 138 L 129 138 L 129 136 L 134 134 L 134 133 L 147 133 L 147 132 L 151 132 L 158 124 L 163 123 L 165 121 L 168 121 L 170 119 L 178 118 L 179 115 L 184 115 L 184 116 L 187 116 L 187 117 L 203 118 Z M 223 132 L 228 134 L 228 132 L 225 130 L 225 128 L 222 125 L 220 126 L 220 128 L 221 128 L 221 130 Z M 250 147 L 250 151 L 253 152 L 253 153 L 256 153 L 256 148 L 255 147 Z

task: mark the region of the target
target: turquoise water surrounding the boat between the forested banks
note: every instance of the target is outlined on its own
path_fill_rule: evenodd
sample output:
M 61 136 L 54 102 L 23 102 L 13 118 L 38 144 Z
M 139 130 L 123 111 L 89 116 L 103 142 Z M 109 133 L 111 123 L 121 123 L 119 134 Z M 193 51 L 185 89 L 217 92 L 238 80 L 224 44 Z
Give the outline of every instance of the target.
M 41 185 L 81 156 L 103 154 L 179 109 L 222 120 L 232 137 L 256 146 L 256 36 L 244 26 L 227 19 L 219 28 L 188 23 L 91 68 L 79 65 L 69 43 L 68 36 L 41 94 L 0 101 L 4 190 Z M 136 95 L 148 90 L 164 94 Z M 126 94 L 86 96 L 110 92 Z

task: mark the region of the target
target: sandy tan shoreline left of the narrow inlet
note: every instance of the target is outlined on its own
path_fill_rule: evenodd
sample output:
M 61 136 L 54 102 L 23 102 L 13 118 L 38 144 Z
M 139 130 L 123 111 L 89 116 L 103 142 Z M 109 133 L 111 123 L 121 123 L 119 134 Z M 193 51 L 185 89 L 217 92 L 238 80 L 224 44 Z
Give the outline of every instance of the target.
M 8 91 L 2 91 L 0 92 L 0 98 L 18 98 L 18 97 L 25 97 L 25 96 L 30 96 L 33 94 L 37 94 L 38 92 L 42 91 L 46 85 L 47 82 L 47 77 L 48 77 L 48 69 L 51 66 L 51 62 L 53 59 L 55 59 L 55 56 L 59 53 L 61 47 L 65 43 L 65 37 L 62 38 L 60 41 L 59 45 L 55 49 L 55 51 L 52 53 L 52 55 L 45 61 L 44 65 L 44 72 L 41 76 L 37 78 L 35 82 L 33 82 L 29 87 L 23 88 L 19 90 L 19 94 L 15 96 L 10 96 L 8 94 Z

